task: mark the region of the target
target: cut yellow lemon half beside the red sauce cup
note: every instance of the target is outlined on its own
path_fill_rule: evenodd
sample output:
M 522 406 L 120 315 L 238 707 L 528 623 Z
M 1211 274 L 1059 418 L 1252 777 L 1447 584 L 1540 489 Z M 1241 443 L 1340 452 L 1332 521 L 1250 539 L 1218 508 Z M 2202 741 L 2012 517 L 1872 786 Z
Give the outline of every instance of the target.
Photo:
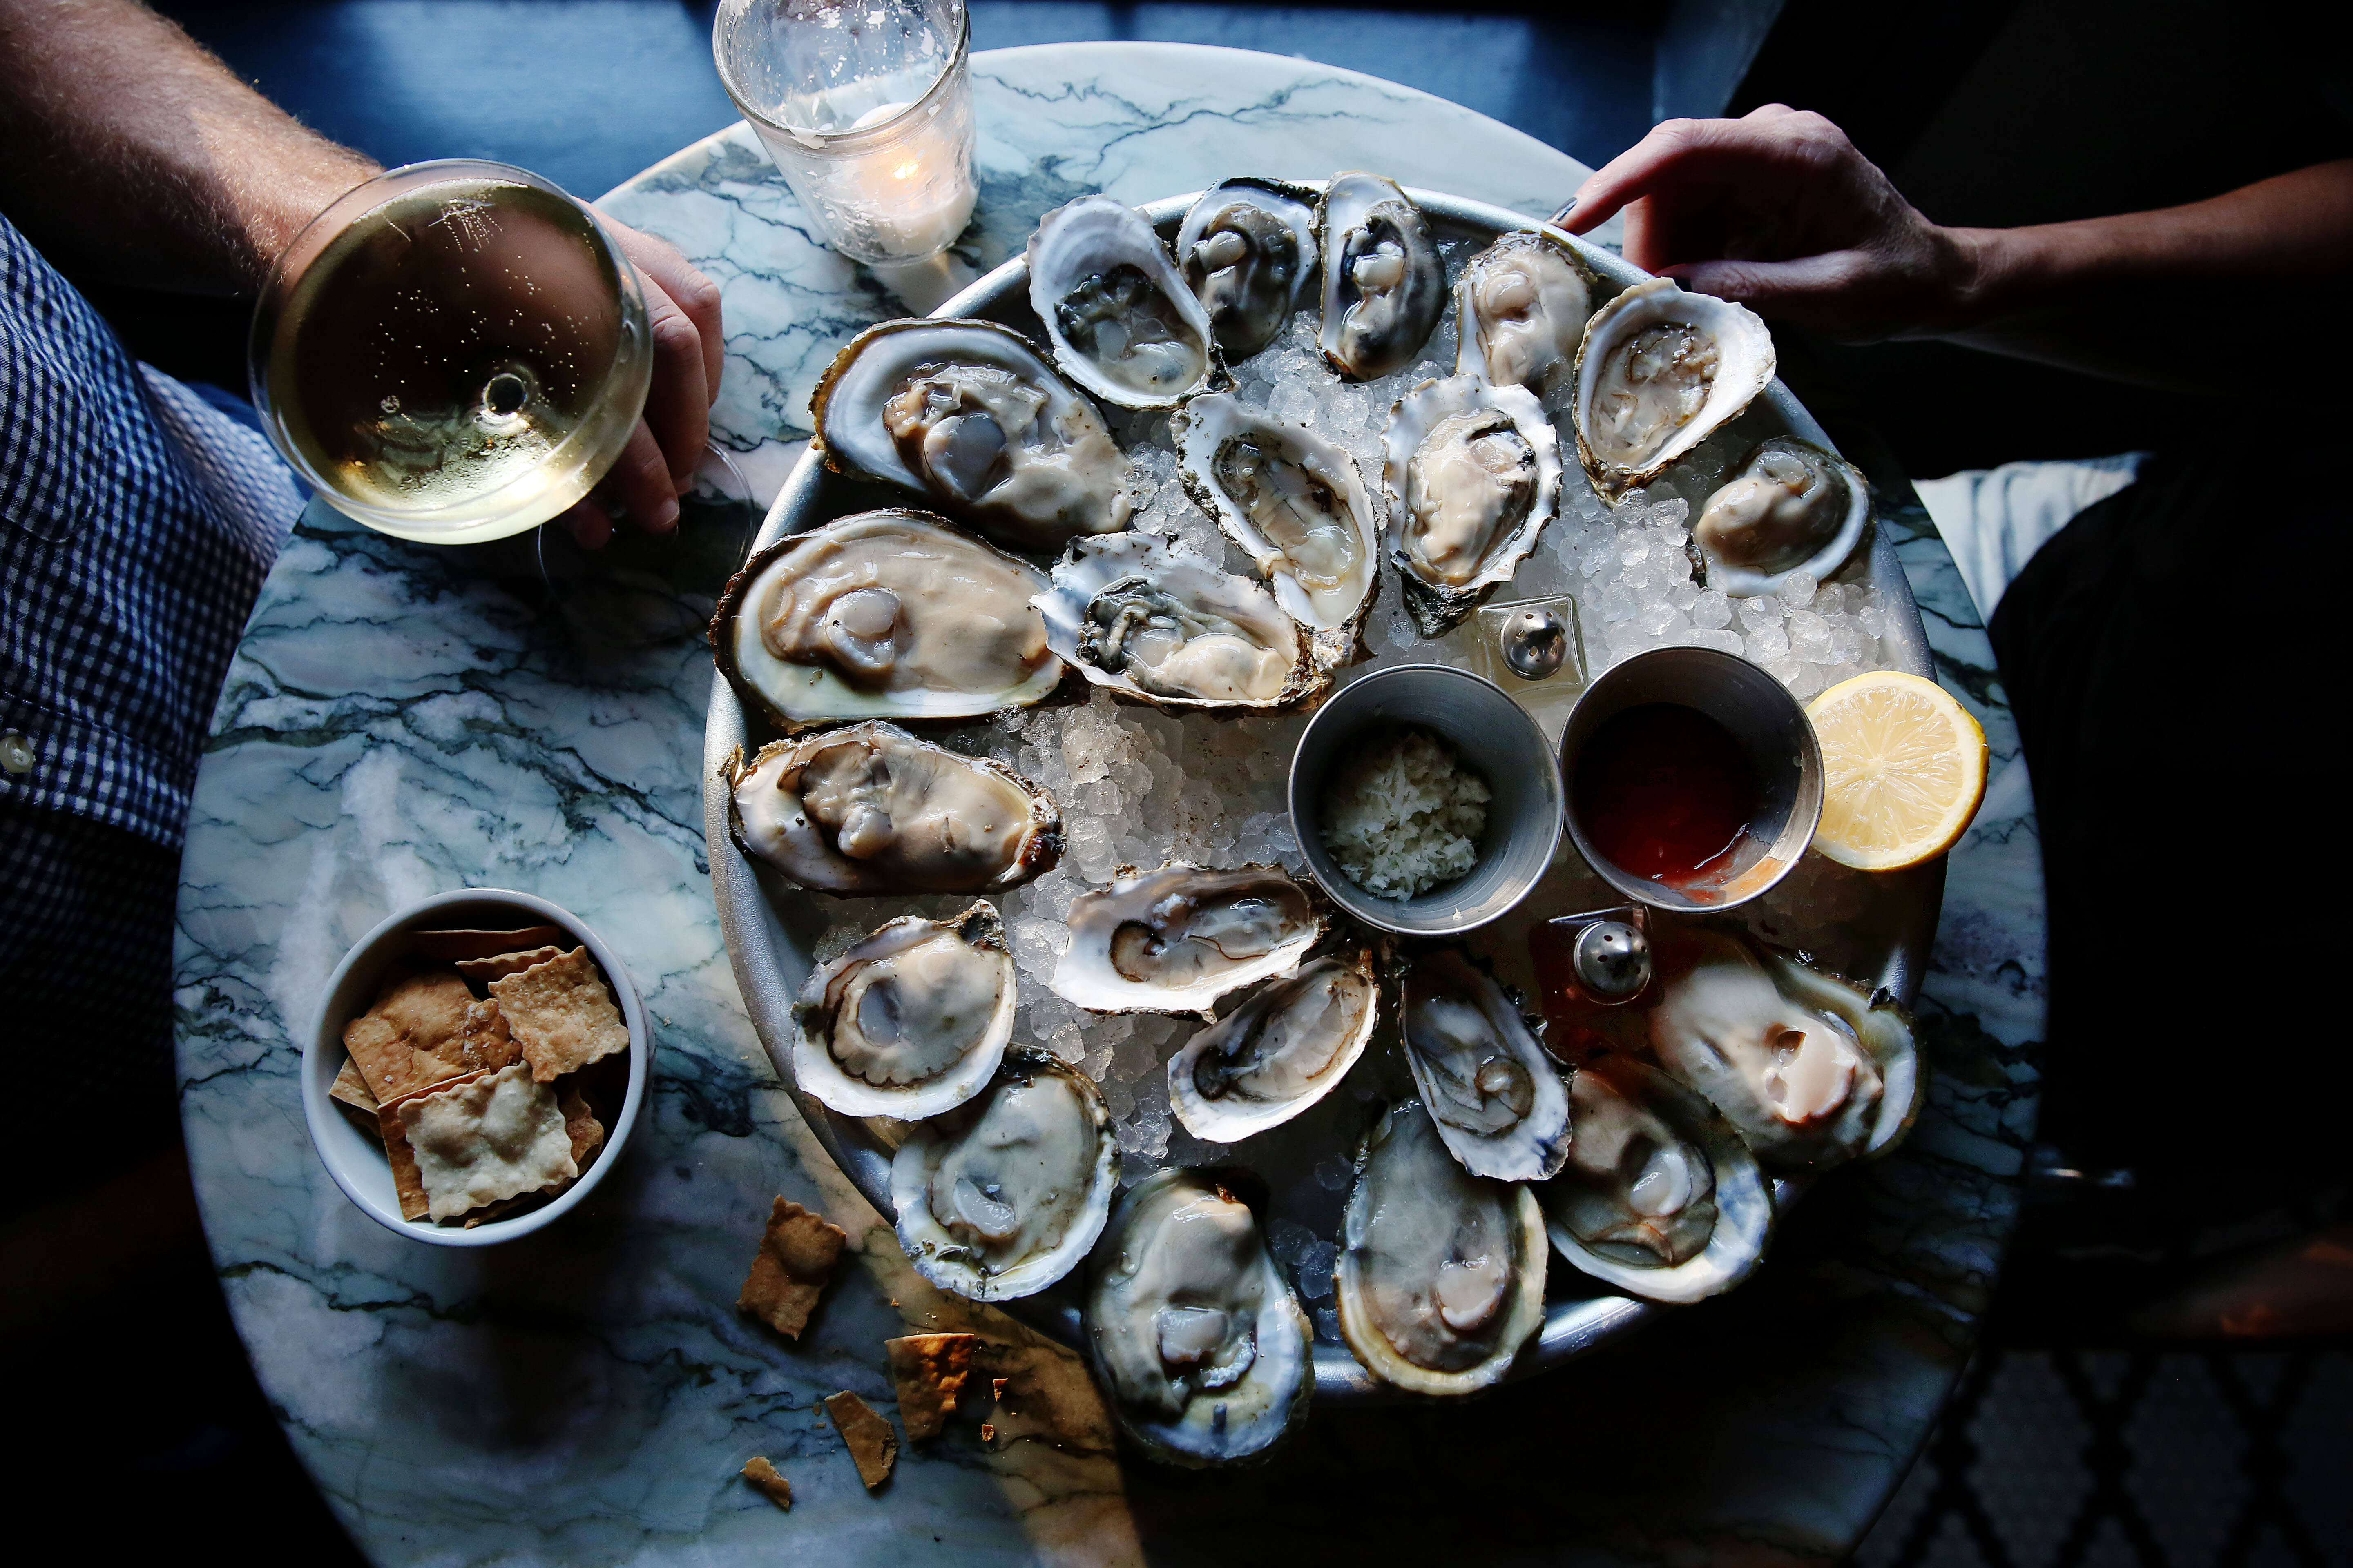
M 1873 670 L 1805 708 L 1821 741 L 1814 849 L 1864 872 L 1948 851 L 1986 797 L 1986 731 L 1944 686 Z

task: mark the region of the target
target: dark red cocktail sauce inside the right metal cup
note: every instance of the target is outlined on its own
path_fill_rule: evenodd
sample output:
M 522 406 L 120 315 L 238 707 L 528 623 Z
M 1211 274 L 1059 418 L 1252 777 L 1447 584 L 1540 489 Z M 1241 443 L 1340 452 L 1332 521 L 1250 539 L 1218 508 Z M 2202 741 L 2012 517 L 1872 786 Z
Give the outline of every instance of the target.
M 1577 820 L 1619 867 L 1689 889 L 1732 870 L 1758 809 L 1748 755 L 1722 724 L 1682 703 L 1617 712 L 1577 755 Z

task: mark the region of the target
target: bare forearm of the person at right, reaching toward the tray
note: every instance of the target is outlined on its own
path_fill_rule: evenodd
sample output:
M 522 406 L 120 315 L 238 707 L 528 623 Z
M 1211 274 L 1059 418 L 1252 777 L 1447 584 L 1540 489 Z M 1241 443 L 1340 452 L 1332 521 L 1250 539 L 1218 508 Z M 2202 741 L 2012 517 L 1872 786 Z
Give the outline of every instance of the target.
M 2353 266 L 2353 160 L 2313 165 L 2207 202 L 2033 228 L 1948 230 L 1969 282 L 1937 336 L 1995 353 L 2155 386 L 2212 386 L 2245 360 L 2245 334 L 2198 334 L 2221 301 L 2209 289 L 2337 282 Z M 2334 310 L 2294 313 L 2315 341 L 2353 348 Z M 2261 341 L 2261 336 L 2257 336 Z M 2320 371 L 2280 355 L 2273 378 Z M 2322 378 L 2337 388 L 2334 369 Z

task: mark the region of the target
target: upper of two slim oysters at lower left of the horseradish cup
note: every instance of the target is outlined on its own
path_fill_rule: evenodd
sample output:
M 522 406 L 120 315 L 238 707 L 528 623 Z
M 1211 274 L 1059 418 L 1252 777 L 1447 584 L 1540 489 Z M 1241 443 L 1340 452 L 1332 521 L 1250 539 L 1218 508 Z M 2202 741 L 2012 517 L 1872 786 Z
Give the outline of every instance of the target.
M 1200 1013 L 1226 992 L 1285 973 L 1325 922 L 1282 867 L 1231 872 L 1120 867 L 1071 900 L 1054 994 L 1096 1013 Z

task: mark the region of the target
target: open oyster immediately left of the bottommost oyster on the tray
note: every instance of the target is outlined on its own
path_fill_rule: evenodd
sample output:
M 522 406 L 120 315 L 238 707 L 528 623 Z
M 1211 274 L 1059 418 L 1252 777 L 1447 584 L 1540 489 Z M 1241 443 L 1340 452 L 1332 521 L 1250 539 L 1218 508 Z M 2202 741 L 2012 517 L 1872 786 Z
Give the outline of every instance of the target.
M 1118 1166 L 1094 1081 L 1014 1046 L 979 1098 L 918 1121 L 892 1157 L 899 1246 L 941 1291 L 976 1302 L 1033 1295 L 1104 1232 Z

